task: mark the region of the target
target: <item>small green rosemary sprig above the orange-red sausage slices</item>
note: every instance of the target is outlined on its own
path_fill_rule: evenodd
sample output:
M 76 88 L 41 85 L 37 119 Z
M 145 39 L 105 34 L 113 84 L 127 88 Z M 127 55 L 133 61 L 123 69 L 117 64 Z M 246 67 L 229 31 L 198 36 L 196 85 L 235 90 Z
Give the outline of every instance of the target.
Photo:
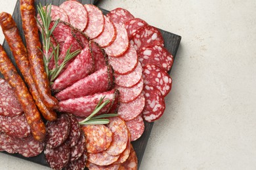
M 110 120 L 108 120 L 107 118 L 118 116 L 118 114 L 100 114 L 98 116 L 95 116 L 95 114 L 97 114 L 103 107 L 105 107 L 106 105 L 108 105 L 108 103 L 110 103 L 109 99 L 106 99 L 106 101 L 102 103 L 104 98 L 105 97 L 100 98 L 100 101 L 98 101 L 98 105 L 96 105 L 95 110 L 93 110 L 93 112 L 87 118 L 85 118 L 85 120 L 82 120 L 81 122 L 79 122 L 79 124 L 81 125 L 108 124 Z

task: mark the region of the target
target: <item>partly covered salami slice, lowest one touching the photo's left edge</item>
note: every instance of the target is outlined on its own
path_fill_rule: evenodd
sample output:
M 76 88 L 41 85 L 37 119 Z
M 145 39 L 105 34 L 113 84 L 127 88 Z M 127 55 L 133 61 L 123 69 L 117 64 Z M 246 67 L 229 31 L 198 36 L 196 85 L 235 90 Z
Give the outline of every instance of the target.
M 1 132 L 0 132 L 0 151 L 6 151 L 10 154 L 16 153 L 16 150 L 12 147 L 11 137 Z

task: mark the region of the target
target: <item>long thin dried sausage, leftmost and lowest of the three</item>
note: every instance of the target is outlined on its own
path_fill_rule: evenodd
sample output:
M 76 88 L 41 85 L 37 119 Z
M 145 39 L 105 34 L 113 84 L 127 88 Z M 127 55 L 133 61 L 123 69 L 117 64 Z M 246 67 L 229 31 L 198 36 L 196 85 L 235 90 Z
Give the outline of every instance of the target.
M 28 125 L 31 128 L 33 137 L 37 141 L 45 139 L 45 124 L 41 119 L 40 113 L 37 110 L 35 102 L 33 101 L 26 84 L 23 82 L 20 75 L 18 75 L 14 65 L 8 58 L 3 46 L 0 45 L 0 72 L 5 76 L 5 79 L 12 86 L 16 93 L 18 101 L 22 105 L 22 110 L 25 113 Z

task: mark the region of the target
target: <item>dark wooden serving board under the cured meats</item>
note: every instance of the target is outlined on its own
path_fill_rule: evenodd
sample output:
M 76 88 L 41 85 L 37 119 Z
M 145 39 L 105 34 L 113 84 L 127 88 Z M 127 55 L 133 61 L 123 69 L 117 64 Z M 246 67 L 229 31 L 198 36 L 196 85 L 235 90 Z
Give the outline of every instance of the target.
M 39 4 L 39 2 L 41 2 L 42 5 L 46 5 L 47 3 L 52 3 L 53 5 L 60 5 L 64 1 L 65 0 L 56 0 L 56 1 L 54 1 L 54 0 L 35 0 L 35 5 Z M 97 0 L 95 0 L 95 1 L 79 0 L 79 1 L 82 4 L 85 4 L 85 3 L 95 3 Z M 20 34 L 22 35 L 22 40 L 25 42 L 24 33 L 22 31 L 22 26 L 21 26 L 21 18 L 20 18 L 20 10 L 19 9 L 20 9 L 20 5 L 19 5 L 19 0 L 18 0 L 16 3 L 16 6 L 15 6 L 14 12 L 12 14 L 12 17 L 14 18 L 16 24 L 18 25 L 18 29 L 20 31 Z M 107 10 L 102 9 L 102 11 L 104 12 L 104 14 L 108 13 Z M 167 50 L 169 50 L 169 52 L 171 52 L 171 54 L 173 54 L 173 56 L 175 58 L 176 54 L 177 54 L 177 50 L 179 48 L 179 44 L 181 42 L 181 36 L 175 35 L 173 33 L 169 33 L 167 31 L 163 31 L 162 29 L 160 29 L 160 31 L 163 35 L 163 39 L 165 40 L 165 48 L 167 48 Z M 3 42 L 3 48 L 5 48 L 7 55 L 9 56 L 9 58 L 11 58 L 12 62 L 16 66 L 13 56 L 11 54 L 11 50 L 6 41 Z M 169 71 L 169 73 L 170 72 L 171 71 Z M 1 73 L 0 73 L 0 77 L 3 78 L 3 75 L 1 75 Z M 135 148 L 135 151 L 137 153 L 139 166 L 142 161 L 142 157 L 143 157 L 144 151 L 146 149 L 146 144 L 148 143 L 148 138 L 150 137 L 150 133 L 151 133 L 153 125 L 154 125 L 154 123 L 145 122 L 145 131 L 144 131 L 143 135 L 137 141 L 134 141 L 132 143 L 133 147 Z M 7 152 L 3 152 L 3 153 L 9 154 Z M 18 158 L 22 158 L 24 160 L 32 161 L 34 163 L 39 163 L 41 165 L 49 166 L 47 164 L 47 162 L 45 161 L 43 153 L 40 154 L 39 156 L 35 156 L 32 158 L 25 158 L 24 156 L 21 156 L 20 154 L 9 154 L 9 155 L 15 156 Z

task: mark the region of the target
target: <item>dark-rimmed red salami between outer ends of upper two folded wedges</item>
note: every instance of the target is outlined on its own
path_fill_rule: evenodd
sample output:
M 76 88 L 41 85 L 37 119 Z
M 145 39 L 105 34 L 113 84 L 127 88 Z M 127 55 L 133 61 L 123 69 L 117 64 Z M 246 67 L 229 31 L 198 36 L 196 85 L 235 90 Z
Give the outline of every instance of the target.
M 95 71 L 98 71 L 108 65 L 108 57 L 105 51 L 96 42 L 91 42 L 91 48 L 93 58 L 95 58 Z

